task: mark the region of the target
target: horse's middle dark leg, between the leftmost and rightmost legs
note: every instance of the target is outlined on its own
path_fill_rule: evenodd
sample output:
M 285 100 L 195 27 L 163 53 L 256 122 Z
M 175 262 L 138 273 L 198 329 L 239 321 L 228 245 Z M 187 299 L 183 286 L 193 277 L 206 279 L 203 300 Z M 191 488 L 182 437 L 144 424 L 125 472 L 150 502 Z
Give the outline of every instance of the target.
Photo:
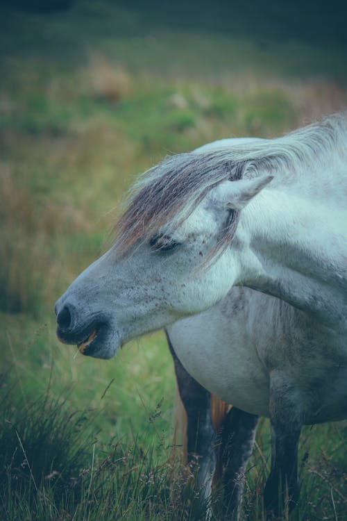
M 230 513 L 239 508 L 244 490 L 244 472 L 251 456 L 258 418 L 232 407 L 221 427 L 219 474 L 222 476 L 223 504 Z

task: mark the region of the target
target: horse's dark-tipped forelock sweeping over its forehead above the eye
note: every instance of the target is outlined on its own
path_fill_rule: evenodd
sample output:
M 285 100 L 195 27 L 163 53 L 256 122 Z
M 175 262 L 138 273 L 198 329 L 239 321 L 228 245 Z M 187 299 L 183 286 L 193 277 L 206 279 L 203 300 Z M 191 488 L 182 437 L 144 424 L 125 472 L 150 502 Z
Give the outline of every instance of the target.
M 172 220 L 180 224 L 214 186 L 241 177 L 240 163 L 221 160 L 215 153 L 190 152 L 165 158 L 142 174 L 128 195 L 115 225 L 117 251 L 126 254 Z

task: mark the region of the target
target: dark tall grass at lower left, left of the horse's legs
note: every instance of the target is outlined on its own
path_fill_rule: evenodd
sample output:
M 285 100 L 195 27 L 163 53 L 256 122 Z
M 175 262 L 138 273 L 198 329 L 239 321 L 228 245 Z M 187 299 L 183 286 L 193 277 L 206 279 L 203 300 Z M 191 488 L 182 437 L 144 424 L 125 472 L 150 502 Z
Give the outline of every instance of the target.
M 93 431 L 91 411 L 69 411 L 66 397 L 23 404 L 2 380 L 0 515 L 6 520 L 199 519 L 204 512 L 178 462 L 158 465 L 155 447 Z M 165 449 L 162 447 L 165 453 Z

